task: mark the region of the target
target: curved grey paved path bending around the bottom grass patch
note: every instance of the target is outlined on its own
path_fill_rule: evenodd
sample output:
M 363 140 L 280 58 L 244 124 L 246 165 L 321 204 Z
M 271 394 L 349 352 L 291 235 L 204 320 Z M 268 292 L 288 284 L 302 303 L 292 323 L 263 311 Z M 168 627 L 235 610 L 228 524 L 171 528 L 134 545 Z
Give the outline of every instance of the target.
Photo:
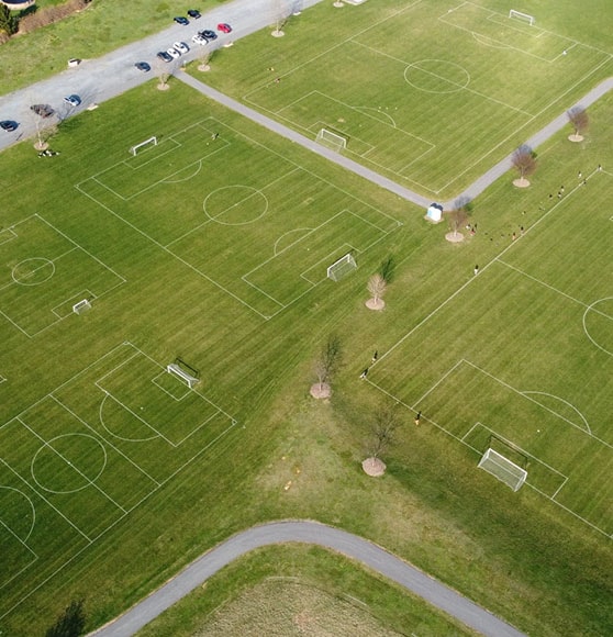
M 316 544 L 354 558 L 483 635 L 491 637 L 524 635 L 381 547 L 357 535 L 316 522 L 274 522 L 231 537 L 191 562 L 177 577 L 124 615 L 91 635 L 96 637 L 133 635 L 236 558 L 255 548 L 288 541 Z

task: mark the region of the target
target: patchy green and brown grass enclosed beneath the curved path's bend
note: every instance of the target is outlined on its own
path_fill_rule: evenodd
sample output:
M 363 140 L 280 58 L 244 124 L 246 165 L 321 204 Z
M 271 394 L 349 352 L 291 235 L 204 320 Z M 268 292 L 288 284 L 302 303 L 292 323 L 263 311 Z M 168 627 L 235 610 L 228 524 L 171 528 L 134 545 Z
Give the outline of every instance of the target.
M 140 635 L 472 635 L 419 597 L 319 547 L 258 549 Z

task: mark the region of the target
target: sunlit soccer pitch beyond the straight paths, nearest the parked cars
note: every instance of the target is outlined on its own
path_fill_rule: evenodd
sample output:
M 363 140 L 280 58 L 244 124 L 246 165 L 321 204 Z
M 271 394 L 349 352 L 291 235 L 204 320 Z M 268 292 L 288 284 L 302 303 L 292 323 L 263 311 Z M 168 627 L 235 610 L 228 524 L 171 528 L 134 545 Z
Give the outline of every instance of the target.
M 338 18 L 321 5 L 297 20 L 316 12 L 319 24 Z M 366 3 L 348 13 L 333 40 L 314 22 L 275 46 L 260 34 L 245 52 L 248 77 L 234 59 L 211 82 L 313 139 L 322 128 L 343 136 L 346 156 L 438 199 L 559 114 L 560 97 L 579 97 L 611 62 L 479 3 Z

